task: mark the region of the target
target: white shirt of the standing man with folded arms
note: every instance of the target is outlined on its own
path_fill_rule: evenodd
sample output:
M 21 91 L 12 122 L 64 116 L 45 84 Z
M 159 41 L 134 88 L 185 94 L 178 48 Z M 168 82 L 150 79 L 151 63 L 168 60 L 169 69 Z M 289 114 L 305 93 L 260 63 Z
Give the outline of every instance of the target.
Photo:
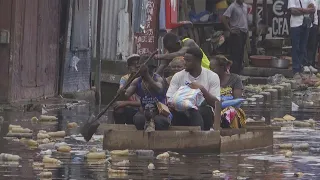
M 289 0 L 288 1 L 288 9 L 290 8 L 301 8 L 300 1 L 302 8 L 307 8 L 309 4 L 314 4 L 314 0 Z M 316 5 L 315 5 L 316 6 Z M 299 27 L 303 23 L 303 15 L 301 16 L 293 16 L 291 15 L 290 18 L 290 27 Z

